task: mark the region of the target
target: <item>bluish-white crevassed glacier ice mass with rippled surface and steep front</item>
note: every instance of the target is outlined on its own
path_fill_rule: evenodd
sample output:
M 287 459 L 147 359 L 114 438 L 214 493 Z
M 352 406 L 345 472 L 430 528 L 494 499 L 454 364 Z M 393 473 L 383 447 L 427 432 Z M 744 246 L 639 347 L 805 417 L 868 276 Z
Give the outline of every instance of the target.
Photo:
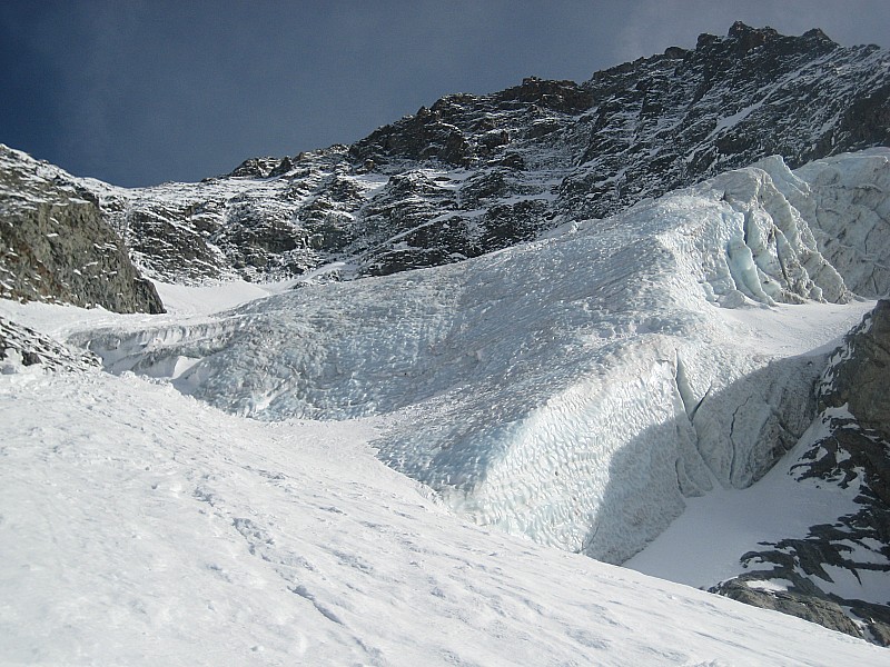
M 888 156 L 820 165 L 887 192 Z M 825 192 L 771 158 L 467 262 L 76 339 L 240 415 L 389 415 L 378 456 L 453 509 L 621 563 L 684 498 L 749 486 L 809 426 L 823 359 L 745 345 L 725 313 L 851 298 L 801 215 Z M 884 225 L 873 201 L 863 225 Z M 812 348 L 864 309 L 838 308 Z

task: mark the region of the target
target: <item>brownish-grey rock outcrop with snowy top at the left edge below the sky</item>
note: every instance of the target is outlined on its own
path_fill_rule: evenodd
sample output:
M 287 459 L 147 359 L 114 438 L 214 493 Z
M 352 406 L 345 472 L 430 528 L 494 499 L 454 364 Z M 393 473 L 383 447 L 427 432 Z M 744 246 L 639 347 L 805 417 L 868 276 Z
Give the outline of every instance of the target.
M 0 147 L 0 297 L 164 312 L 97 197 L 61 170 Z

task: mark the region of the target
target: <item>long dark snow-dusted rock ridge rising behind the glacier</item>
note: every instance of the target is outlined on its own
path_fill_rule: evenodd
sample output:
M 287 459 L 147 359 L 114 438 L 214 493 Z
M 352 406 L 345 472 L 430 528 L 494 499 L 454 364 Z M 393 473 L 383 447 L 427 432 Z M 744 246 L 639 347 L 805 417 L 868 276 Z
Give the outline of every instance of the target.
M 595 73 L 452 94 L 350 147 L 95 191 L 154 278 L 349 279 L 459 261 L 779 153 L 890 141 L 890 54 L 735 23 Z M 864 293 L 864 292 L 863 292 Z

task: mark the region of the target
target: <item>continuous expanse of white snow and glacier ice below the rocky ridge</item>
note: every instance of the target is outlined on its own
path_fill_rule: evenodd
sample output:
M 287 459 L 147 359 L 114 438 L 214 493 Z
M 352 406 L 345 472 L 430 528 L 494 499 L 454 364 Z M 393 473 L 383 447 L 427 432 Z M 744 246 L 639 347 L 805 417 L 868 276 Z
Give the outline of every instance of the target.
M 0 302 L 116 374 L 0 376 L 0 661 L 886 661 L 581 554 L 710 586 L 849 508 L 785 472 L 873 306 L 848 277 L 887 279 L 856 260 L 888 156 L 385 278 L 159 285 L 162 316 Z

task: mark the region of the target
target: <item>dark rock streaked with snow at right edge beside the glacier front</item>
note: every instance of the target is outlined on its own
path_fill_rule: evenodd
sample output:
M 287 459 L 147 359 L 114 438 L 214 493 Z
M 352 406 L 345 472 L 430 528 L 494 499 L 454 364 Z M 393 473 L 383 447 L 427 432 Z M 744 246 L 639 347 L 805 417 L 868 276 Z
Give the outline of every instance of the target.
M 890 646 L 890 600 L 831 591 L 837 573 L 890 574 L 890 301 L 878 302 L 831 357 L 818 389 L 821 437 L 793 468 L 798 479 L 856 491 L 858 510 L 812 526 L 803 538 L 762 542 L 742 556 L 749 570 L 712 590 Z M 790 583 L 787 591 L 753 581 Z

